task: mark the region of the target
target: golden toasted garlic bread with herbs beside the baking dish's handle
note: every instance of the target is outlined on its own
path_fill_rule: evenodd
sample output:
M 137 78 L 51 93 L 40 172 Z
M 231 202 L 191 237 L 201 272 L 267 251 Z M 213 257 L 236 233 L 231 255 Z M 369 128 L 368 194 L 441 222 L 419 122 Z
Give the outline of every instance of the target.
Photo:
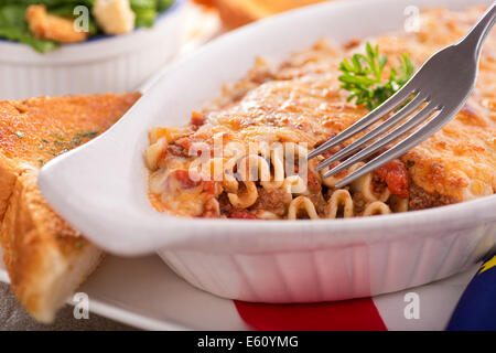
M 138 98 L 106 94 L 0 101 L 0 243 L 12 291 L 40 321 L 53 320 L 103 252 L 46 204 L 37 171 L 108 129 Z

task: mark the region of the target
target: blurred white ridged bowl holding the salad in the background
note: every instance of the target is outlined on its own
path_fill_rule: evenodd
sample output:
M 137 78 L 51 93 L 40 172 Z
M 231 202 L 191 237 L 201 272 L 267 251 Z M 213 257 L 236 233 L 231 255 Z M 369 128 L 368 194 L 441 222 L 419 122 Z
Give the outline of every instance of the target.
M 151 29 L 64 44 L 44 54 L 0 40 L 0 100 L 136 90 L 180 49 L 183 3 L 175 0 Z

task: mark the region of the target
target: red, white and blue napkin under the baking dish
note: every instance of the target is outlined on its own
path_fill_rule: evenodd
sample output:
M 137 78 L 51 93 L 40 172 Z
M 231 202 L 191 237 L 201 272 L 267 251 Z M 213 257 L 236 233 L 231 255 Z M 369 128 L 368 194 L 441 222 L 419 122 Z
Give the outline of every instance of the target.
M 481 268 L 396 293 L 336 302 L 235 301 L 257 330 L 496 330 L 496 257 Z

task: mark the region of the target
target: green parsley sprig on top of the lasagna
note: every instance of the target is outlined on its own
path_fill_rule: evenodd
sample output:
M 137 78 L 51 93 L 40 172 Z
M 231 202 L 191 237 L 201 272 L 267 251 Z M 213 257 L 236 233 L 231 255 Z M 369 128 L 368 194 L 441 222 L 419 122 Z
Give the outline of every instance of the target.
M 366 44 L 366 55 L 354 54 L 352 60 L 343 60 L 339 69 L 343 75 L 338 79 L 343 83 L 341 88 L 351 93 L 347 100 L 356 98 L 356 105 L 365 105 L 373 110 L 392 96 L 413 75 L 414 66 L 408 53 L 399 58 L 398 68 L 391 67 L 389 78 L 382 78 L 382 72 L 388 57 L 379 54 L 379 46 Z

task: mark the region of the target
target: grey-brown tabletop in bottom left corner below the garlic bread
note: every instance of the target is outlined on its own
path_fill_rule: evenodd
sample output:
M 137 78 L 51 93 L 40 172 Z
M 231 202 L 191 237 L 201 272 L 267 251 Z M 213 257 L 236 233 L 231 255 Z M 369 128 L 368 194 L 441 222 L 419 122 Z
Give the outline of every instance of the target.
M 89 319 L 77 320 L 73 314 L 73 307 L 66 306 L 57 313 L 52 324 L 42 324 L 36 322 L 26 311 L 15 301 L 10 291 L 9 285 L 0 282 L 0 331 L 114 331 L 114 330 L 134 330 L 122 323 L 90 313 Z

